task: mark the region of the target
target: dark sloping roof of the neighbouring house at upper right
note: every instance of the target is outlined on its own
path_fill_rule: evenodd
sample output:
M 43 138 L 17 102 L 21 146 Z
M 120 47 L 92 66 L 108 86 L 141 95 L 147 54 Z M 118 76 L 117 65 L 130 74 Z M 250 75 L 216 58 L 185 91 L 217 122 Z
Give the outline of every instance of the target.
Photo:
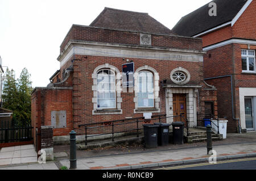
M 199 9 L 183 16 L 172 28 L 172 31 L 181 36 L 194 36 L 210 30 L 221 24 L 230 22 L 242 9 L 247 0 L 214 0 L 217 5 L 217 16 L 209 16 L 211 7 L 204 5 Z

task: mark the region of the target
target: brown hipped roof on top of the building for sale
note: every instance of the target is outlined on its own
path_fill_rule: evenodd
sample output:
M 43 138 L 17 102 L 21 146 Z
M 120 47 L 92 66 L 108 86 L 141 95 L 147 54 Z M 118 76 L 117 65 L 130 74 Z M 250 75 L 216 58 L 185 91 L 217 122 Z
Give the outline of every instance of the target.
M 110 28 L 115 30 L 130 30 L 137 32 L 175 35 L 169 28 L 144 12 L 105 9 L 90 24 L 92 27 Z

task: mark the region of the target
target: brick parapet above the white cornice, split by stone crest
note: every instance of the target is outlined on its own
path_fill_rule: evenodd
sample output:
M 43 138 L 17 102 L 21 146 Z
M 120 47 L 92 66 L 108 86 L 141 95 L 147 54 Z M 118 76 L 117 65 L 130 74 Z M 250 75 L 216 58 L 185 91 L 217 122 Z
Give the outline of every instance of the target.
M 140 45 L 140 33 L 73 25 L 60 45 L 60 52 L 63 51 L 69 40 Z M 201 39 L 180 36 L 151 34 L 151 44 L 156 47 L 202 49 Z

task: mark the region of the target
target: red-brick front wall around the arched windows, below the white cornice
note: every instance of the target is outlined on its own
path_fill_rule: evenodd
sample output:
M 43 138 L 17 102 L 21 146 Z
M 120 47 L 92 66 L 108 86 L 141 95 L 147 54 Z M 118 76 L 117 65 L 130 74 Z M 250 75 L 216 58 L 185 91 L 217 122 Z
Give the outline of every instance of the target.
M 125 117 L 143 116 L 142 113 L 134 113 L 134 92 L 121 92 L 121 108 L 123 110 L 121 115 L 92 115 L 92 73 L 94 69 L 102 64 L 110 64 L 118 68 L 119 71 L 122 71 L 121 67 L 125 62 L 123 62 L 122 57 L 87 56 L 87 58 L 82 61 L 79 61 L 81 58 L 80 55 L 76 55 L 75 57 L 77 61 L 73 61 L 73 119 L 74 129 L 77 134 L 84 134 L 85 132 L 84 128 L 78 128 L 79 124 L 98 123 L 101 121 L 125 119 Z M 203 81 L 203 62 L 148 60 L 139 58 L 129 59 L 134 61 L 135 70 L 144 65 L 154 68 L 159 73 L 160 81 L 163 81 L 163 79 L 170 79 L 171 70 L 178 68 L 179 66 L 189 71 L 191 74 L 191 82 L 193 84 L 200 85 L 201 81 Z M 215 95 L 207 96 L 209 96 L 208 99 L 210 100 L 216 100 Z M 161 86 L 159 98 L 160 113 L 166 113 L 166 95 Z M 158 115 L 160 113 L 153 113 L 153 115 Z

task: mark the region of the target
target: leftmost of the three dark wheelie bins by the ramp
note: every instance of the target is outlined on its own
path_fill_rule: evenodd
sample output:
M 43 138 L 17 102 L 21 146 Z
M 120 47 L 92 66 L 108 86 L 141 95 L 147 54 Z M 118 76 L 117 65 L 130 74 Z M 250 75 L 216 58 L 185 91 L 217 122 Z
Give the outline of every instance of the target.
M 143 124 L 146 148 L 156 148 L 158 146 L 158 127 L 159 125 Z

